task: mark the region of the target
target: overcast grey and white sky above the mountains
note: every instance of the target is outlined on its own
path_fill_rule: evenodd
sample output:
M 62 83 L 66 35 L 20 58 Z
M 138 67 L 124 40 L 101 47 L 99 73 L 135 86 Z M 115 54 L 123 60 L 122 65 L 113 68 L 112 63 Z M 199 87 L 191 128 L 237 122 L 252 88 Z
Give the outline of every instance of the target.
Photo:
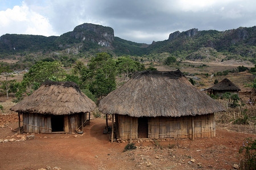
M 112 27 L 134 42 L 163 41 L 170 33 L 256 25 L 255 0 L 0 0 L 0 36 L 61 35 L 82 23 Z

